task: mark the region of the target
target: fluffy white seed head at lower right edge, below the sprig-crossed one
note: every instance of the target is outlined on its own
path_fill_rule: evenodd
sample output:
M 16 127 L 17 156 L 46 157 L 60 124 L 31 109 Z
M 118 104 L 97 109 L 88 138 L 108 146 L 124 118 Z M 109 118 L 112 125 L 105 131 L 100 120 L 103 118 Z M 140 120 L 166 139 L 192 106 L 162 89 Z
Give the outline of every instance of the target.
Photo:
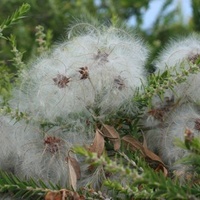
M 188 155 L 188 152 L 177 147 L 175 140 L 191 141 L 194 136 L 199 135 L 199 131 L 194 129 L 194 119 L 199 118 L 198 111 L 190 105 L 182 105 L 171 113 L 165 122 L 162 142 L 160 143 L 160 154 L 169 167 L 176 166 L 176 161 Z M 183 165 L 177 165 L 180 168 Z

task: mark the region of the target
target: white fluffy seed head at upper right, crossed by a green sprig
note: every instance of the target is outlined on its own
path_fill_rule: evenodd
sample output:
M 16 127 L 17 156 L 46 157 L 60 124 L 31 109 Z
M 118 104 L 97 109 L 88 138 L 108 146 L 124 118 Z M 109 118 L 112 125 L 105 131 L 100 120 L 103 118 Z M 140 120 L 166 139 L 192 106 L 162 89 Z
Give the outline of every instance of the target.
M 177 41 L 172 41 L 161 52 L 159 58 L 155 62 L 157 70 L 155 73 L 170 70 L 171 78 L 176 76 L 176 72 L 181 70 L 187 71 L 190 65 L 194 64 L 200 57 L 200 36 L 191 35 L 186 38 L 181 38 Z M 164 91 L 164 99 L 174 100 L 174 104 L 181 105 L 186 102 L 200 103 L 200 73 L 190 74 L 186 80 L 174 86 L 173 91 L 167 89 Z M 165 102 L 160 97 L 155 96 L 152 99 L 153 108 L 163 107 Z

